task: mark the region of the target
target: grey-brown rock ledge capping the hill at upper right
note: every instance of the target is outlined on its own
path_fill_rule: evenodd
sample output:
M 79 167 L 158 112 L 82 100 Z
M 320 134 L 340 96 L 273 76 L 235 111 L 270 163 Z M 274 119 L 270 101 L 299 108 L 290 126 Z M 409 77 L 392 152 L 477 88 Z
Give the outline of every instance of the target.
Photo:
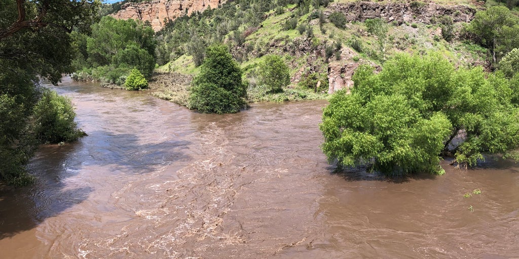
M 366 19 L 382 18 L 388 22 L 420 22 L 431 23 L 431 18 L 451 16 L 454 22 L 470 22 L 476 9 L 464 5 L 442 6 L 434 3 L 376 3 L 352 2 L 334 3 L 326 9 L 327 15 L 332 12 L 342 12 L 348 21 L 365 21 Z

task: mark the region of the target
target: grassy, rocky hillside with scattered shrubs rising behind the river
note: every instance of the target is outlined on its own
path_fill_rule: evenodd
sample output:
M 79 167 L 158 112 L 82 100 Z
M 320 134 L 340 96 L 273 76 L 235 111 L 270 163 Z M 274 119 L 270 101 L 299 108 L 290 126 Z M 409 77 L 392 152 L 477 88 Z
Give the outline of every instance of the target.
M 164 80 L 160 79 L 162 74 L 195 76 L 199 71 L 194 62 L 197 51 L 190 45 L 207 46 L 218 40 L 228 45 L 241 64 L 243 77 L 249 82 L 251 102 L 325 99 L 334 89 L 351 87 L 354 68 L 360 64 L 379 66 L 399 52 L 440 52 L 458 66 L 488 67 L 487 50 L 464 39 L 464 22 L 452 24 L 452 39 L 447 38 L 448 41 L 442 34 L 442 27 L 445 27 L 442 17 L 433 17 L 427 22 L 387 22 L 387 34 L 381 40 L 379 35 L 370 32 L 365 21 L 349 21 L 344 27 L 339 26 L 342 28 L 331 22 L 330 15 L 334 10 L 353 1 L 338 0 L 330 4 L 307 1 L 306 6 L 263 6 L 267 10 L 257 11 L 264 13 L 259 16 L 259 21 L 250 18 L 253 13 L 249 9 L 255 7 L 251 2 L 254 1 L 235 1 L 219 9 L 195 13 L 192 17 L 171 23 L 160 32 L 159 46 L 162 44 L 162 48 L 171 54 L 169 62 L 156 69 L 156 77 L 161 83 L 153 86 L 152 82 L 152 88 L 162 90 L 155 94 L 185 105 L 185 100 L 178 96 L 186 96 L 188 86 L 163 83 Z M 314 2 L 320 6 L 312 4 Z M 467 0 L 434 2 L 471 6 L 474 12 L 479 8 Z M 249 9 L 243 5 L 249 5 Z M 411 2 L 413 5 L 421 7 L 426 3 L 415 1 Z M 455 12 L 452 16 L 456 15 Z M 409 13 L 409 17 L 410 20 L 419 19 L 413 13 Z M 381 41 L 384 41 L 384 48 L 381 48 Z M 291 69 L 291 84 L 283 93 L 270 94 L 256 84 L 255 69 L 266 54 L 282 56 Z

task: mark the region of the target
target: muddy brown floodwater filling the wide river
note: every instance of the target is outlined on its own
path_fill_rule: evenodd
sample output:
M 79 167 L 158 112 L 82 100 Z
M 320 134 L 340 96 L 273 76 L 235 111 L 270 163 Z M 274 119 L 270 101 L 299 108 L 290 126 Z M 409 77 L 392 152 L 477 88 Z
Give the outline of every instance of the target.
M 34 186 L 0 189 L 0 258 L 519 257 L 513 162 L 337 173 L 319 149 L 326 102 L 215 115 L 69 78 L 54 89 L 89 136 L 40 148 Z

